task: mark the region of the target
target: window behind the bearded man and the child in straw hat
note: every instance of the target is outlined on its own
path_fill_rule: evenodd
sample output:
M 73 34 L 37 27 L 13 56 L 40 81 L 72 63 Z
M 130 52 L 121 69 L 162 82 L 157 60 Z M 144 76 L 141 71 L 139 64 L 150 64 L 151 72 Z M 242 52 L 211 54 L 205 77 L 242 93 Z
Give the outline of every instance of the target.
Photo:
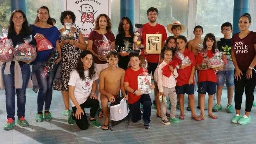
M 147 9 L 155 7 L 158 9 L 157 23 L 163 25 L 165 28 L 168 24 L 174 21 L 179 21 L 186 26 L 186 31 L 182 34 L 188 35 L 188 13 L 189 13 L 189 0 L 140 0 L 140 23 L 145 24 L 148 22 Z M 166 29 L 167 35 L 170 34 Z

